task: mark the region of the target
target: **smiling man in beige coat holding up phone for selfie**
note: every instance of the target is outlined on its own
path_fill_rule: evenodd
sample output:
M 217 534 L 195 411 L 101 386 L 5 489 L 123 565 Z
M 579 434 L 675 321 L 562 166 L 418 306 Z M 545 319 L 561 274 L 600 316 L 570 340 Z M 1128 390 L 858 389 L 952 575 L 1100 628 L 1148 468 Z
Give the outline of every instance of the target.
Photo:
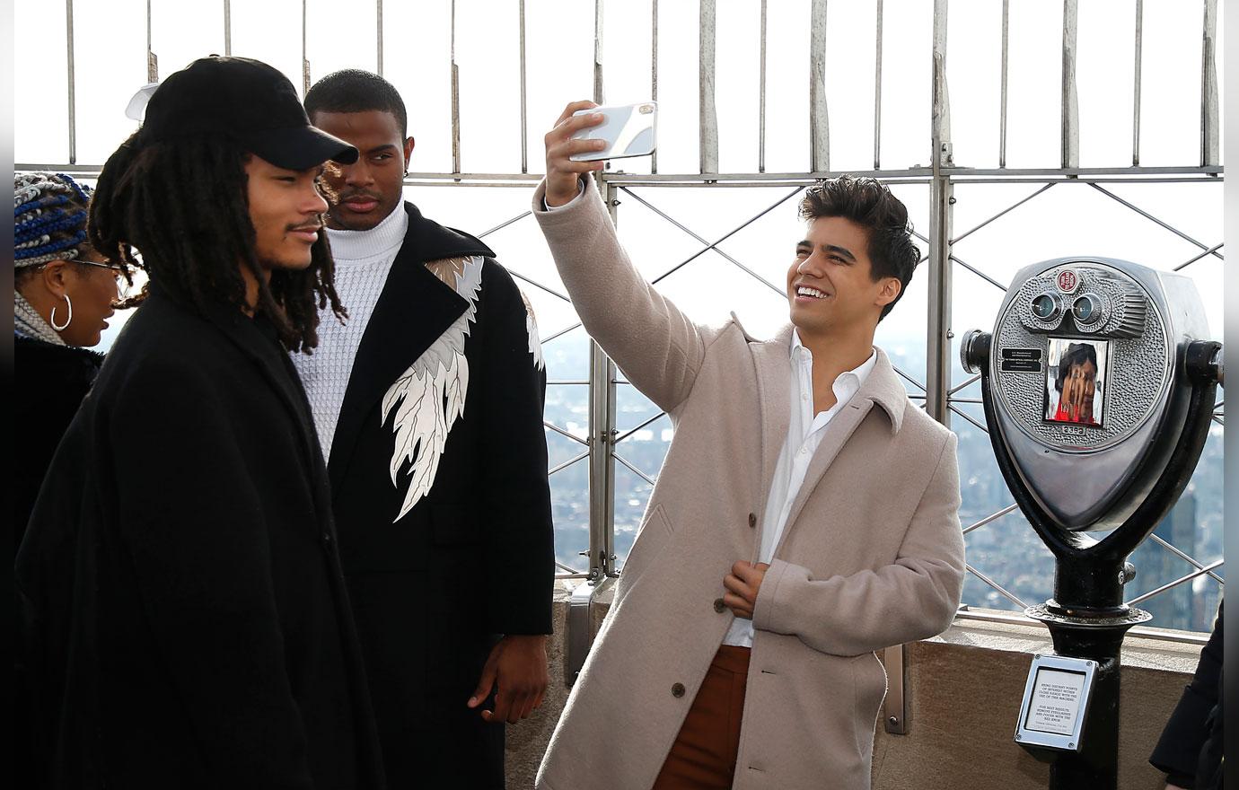
M 602 123 L 546 135 L 534 213 L 585 324 L 675 427 L 610 615 L 538 775 L 570 790 L 870 785 L 876 650 L 959 604 L 955 437 L 913 405 L 873 333 L 918 260 L 871 178 L 808 191 L 783 240 L 790 323 L 695 324 L 638 274 L 597 189 Z

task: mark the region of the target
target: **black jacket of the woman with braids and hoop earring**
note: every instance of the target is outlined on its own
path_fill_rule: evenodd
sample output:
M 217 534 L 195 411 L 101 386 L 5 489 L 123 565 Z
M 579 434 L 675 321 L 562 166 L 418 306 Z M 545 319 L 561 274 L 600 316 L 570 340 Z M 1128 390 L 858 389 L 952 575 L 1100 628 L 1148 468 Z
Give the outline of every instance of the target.
M 103 354 L 73 345 L 14 337 L 14 374 L 21 393 L 14 411 L 14 553 L 52 453 L 99 375 Z

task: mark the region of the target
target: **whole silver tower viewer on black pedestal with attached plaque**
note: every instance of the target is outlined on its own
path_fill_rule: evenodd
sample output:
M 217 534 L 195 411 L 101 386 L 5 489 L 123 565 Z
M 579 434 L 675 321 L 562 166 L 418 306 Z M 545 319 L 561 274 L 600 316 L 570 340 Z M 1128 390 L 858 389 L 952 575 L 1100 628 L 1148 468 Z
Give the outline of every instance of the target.
M 1052 789 L 1118 784 L 1120 648 L 1151 617 L 1124 603 L 1127 557 L 1204 447 L 1223 378 L 1208 337 L 1189 279 L 1064 258 L 1022 269 L 992 334 L 963 338 L 999 468 L 1056 561 L 1053 598 L 1026 612 L 1054 653 L 1033 658 L 1015 734 Z

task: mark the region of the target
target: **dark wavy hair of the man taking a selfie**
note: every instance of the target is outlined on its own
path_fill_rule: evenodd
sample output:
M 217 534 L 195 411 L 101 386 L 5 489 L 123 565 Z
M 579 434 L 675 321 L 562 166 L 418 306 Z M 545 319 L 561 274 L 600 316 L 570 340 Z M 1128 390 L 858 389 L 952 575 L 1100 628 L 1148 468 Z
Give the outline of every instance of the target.
M 912 243 L 907 207 L 876 178 L 843 175 L 823 181 L 804 193 L 800 219 L 812 222 L 819 217 L 843 217 L 864 228 L 869 234 L 866 251 L 872 264 L 870 276 L 873 282 L 883 277 L 900 280 L 900 295 L 882 308 L 877 319 L 886 318 L 907 292 L 912 272 L 921 260 L 921 253 Z

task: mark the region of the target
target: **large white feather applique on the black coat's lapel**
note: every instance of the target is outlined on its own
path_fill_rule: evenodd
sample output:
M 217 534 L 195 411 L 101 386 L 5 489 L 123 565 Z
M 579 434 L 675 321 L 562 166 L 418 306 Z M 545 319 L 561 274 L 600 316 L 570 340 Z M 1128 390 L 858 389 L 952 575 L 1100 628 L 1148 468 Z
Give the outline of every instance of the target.
M 447 433 L 465 416 L 468 393 L 468 359 L 465 338 L 477 318 L 477 300 L 482 290 L 482 258 L 451 258 L 426 264 L 436 277 L 451 286 L 467 302 L 452 326 L 405 370 L 383 395 L 382 420 L 395 409 L 395 449 L 389 471 L 392 484 L 400 487 L 400 468 L 408 472 L 409 490 L 393 521 L 399 521 L 430 493 L 439 472 L 439 459 L 447 445 Z

